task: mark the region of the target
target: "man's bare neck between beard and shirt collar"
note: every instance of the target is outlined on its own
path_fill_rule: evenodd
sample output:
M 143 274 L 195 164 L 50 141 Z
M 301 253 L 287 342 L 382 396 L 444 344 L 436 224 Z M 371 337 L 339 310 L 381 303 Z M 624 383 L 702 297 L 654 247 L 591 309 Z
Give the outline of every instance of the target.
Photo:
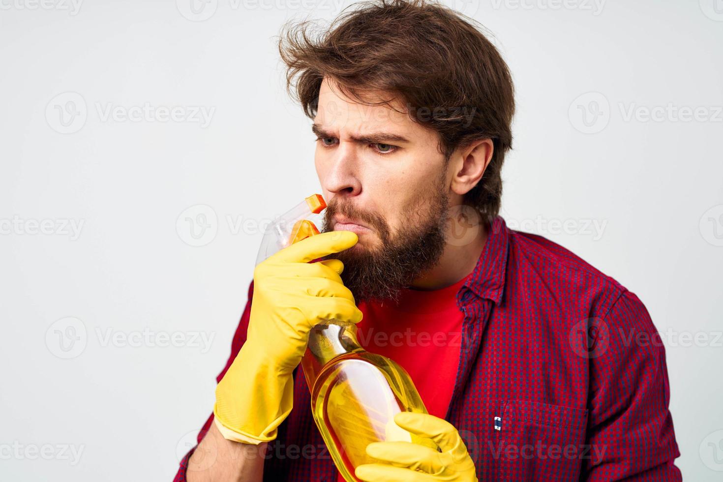
M 456 220 L 453 223 L 456 223 Z M 471 238 L 470 231 L 461 231 L 470 229 L 476 231 L 474 238 Z M 450 228 L 448 239 L 455 241 L 445 246 L 442 257 L 435 267 L 414 279 L 411 288 L 420 291 L 440 290 L 469 275 L 474 271 L 484 244 L 487 243 L 487 231 L 487 226 L 482 221 L 474 226 L 455 225 L 454 228 Z M 463 236 L 459 238 L 458 235 L 455 236 L 456 233 L 463 233 Z M 469 242 L 466 242 L 467 236 L 471 238 Z

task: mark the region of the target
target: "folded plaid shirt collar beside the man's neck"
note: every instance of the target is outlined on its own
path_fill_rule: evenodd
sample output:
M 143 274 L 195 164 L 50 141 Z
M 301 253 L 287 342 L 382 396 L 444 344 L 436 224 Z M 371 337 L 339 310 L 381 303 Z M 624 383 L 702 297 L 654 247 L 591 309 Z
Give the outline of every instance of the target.
M 487 230 L 487 241 L 482 248 L 482 254 L 463 286 L 480 298 L 500 304 L 505 290 L 510 230 L 499 215 L 489 223 Z

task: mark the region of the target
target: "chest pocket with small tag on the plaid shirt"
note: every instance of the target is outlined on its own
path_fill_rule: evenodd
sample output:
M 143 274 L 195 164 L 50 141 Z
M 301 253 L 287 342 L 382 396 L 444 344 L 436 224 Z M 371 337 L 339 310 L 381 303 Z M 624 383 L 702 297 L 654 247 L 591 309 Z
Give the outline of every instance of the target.
M 588 411 L 527 400 L 504 400 L 495 416 L 492 457 L 497 481 L 577 481 L 590 455 Z

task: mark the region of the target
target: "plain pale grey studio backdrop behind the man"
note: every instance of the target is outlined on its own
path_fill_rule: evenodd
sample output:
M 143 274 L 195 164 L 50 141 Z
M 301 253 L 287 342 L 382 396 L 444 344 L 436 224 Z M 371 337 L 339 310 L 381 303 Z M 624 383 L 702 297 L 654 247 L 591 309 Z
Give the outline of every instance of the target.
M 641 298 L 676 462 L 720 480 L 723 3 L 447 4 L 513 72 L 502 216 Z M 275 35 L 341 8 L 0 0 L 2 480 L 172 478 L 213 408 L 259 226 L 320 191 Z

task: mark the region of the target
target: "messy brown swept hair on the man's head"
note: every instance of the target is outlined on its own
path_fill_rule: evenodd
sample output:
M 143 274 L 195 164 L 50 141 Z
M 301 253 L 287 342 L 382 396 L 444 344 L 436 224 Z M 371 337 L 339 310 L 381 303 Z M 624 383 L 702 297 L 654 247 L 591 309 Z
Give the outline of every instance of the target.
M 476 27 L 475 25 L 478 25 Z M 413 121 L 439 134 L 445 161 L 477 139 L 495 146 L 464 201 L 485 217 L 500 211 L 502 161 L 512 147 L 514 87 L 507 64 L 469 17 L 427 0 L 364 1 L 327 28 L 289 23 L 278 43 L 286 87 L 314 118 L 325 77 L 367 105 L 401 100 Z M 370 102 L 365 92 L 393 92 Z

